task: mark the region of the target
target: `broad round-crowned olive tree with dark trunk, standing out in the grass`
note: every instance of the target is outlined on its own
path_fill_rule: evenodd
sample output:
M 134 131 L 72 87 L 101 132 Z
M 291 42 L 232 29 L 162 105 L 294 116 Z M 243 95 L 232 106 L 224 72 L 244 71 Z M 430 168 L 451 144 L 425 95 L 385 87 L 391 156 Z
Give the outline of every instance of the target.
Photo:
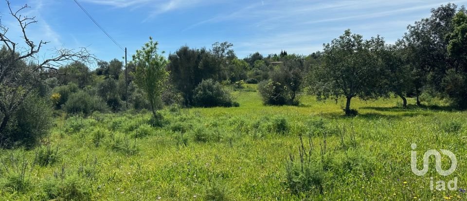
M 344 97 L 345 114 L 351 115 L 353 97 L 365 100 L 380 95 L 377 83 L 382 62 L 377 55 L 382 49 L 384 40 L 379 36 L 363 40 L 363 36 L 346 30 L 330 44 L 323 45 L 322 64 L 311 72 L 309 92 L 318 100 L 331 98 L 336 103 Z

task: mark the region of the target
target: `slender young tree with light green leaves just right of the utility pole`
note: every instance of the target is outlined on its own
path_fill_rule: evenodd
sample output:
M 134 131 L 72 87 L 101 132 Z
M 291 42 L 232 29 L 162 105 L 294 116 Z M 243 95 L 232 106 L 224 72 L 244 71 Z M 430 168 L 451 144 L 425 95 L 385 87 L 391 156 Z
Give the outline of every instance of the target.
M 135 83 L 145 92 L 154 117 L 157 116 L 157 103 L 161 99 L 162 86 L 169 75 L 165 70 L 169 62 L 158 53 L 158 45 L 159 43 L 150 37 L 149 42 L 133 55 L 133 62 L 136 64 Z

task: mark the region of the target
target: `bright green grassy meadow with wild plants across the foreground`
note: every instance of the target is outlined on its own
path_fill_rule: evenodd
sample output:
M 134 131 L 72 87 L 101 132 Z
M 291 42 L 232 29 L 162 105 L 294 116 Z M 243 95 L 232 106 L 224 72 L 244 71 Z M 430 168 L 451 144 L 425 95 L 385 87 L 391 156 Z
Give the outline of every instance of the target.
M 50 142 L 1 151 L 0 200 L 467 199 L 466 112 L 355 99 L 351 118 L 341 102 L 304 95 L 297 107 L 263 106 L 253 90 L 234 93 L 238 108 L 165 108 L 161 127 L 149 126 L 149 113 L 57 117 Z M 457 169 L 441 176 L 431 158 L 416 176 L 412 143 L 419 169 L 429 149 L 453 152 Z M 287 179 L 287 167 L 302 169 L 301 152 L 311 171 L 297 191 L 301 176 Z M 457 177 L 458 189 L 432 191 L 430 177 Z

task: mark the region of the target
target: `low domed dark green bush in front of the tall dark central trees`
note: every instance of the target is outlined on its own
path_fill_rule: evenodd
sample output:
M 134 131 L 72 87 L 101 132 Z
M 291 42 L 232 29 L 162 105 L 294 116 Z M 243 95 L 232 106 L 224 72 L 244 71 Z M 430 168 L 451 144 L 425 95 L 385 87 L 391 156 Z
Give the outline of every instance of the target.
M 195 88 L 193 100 L 198 107 L 233 107 L 238 105 L 232 101 L 230 93 L 225 91 L 219 82 L 212 79 L 203 80 Z

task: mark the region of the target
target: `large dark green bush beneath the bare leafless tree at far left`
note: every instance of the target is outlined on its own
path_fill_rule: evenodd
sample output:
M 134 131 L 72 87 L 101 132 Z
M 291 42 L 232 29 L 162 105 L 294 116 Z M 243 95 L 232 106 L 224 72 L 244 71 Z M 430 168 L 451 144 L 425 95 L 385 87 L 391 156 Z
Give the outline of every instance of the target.
M 51 104 L 35 93 L 26 96 L 1 136 L 2 146 L 33 145 L 47 134 L 51 125 Z

